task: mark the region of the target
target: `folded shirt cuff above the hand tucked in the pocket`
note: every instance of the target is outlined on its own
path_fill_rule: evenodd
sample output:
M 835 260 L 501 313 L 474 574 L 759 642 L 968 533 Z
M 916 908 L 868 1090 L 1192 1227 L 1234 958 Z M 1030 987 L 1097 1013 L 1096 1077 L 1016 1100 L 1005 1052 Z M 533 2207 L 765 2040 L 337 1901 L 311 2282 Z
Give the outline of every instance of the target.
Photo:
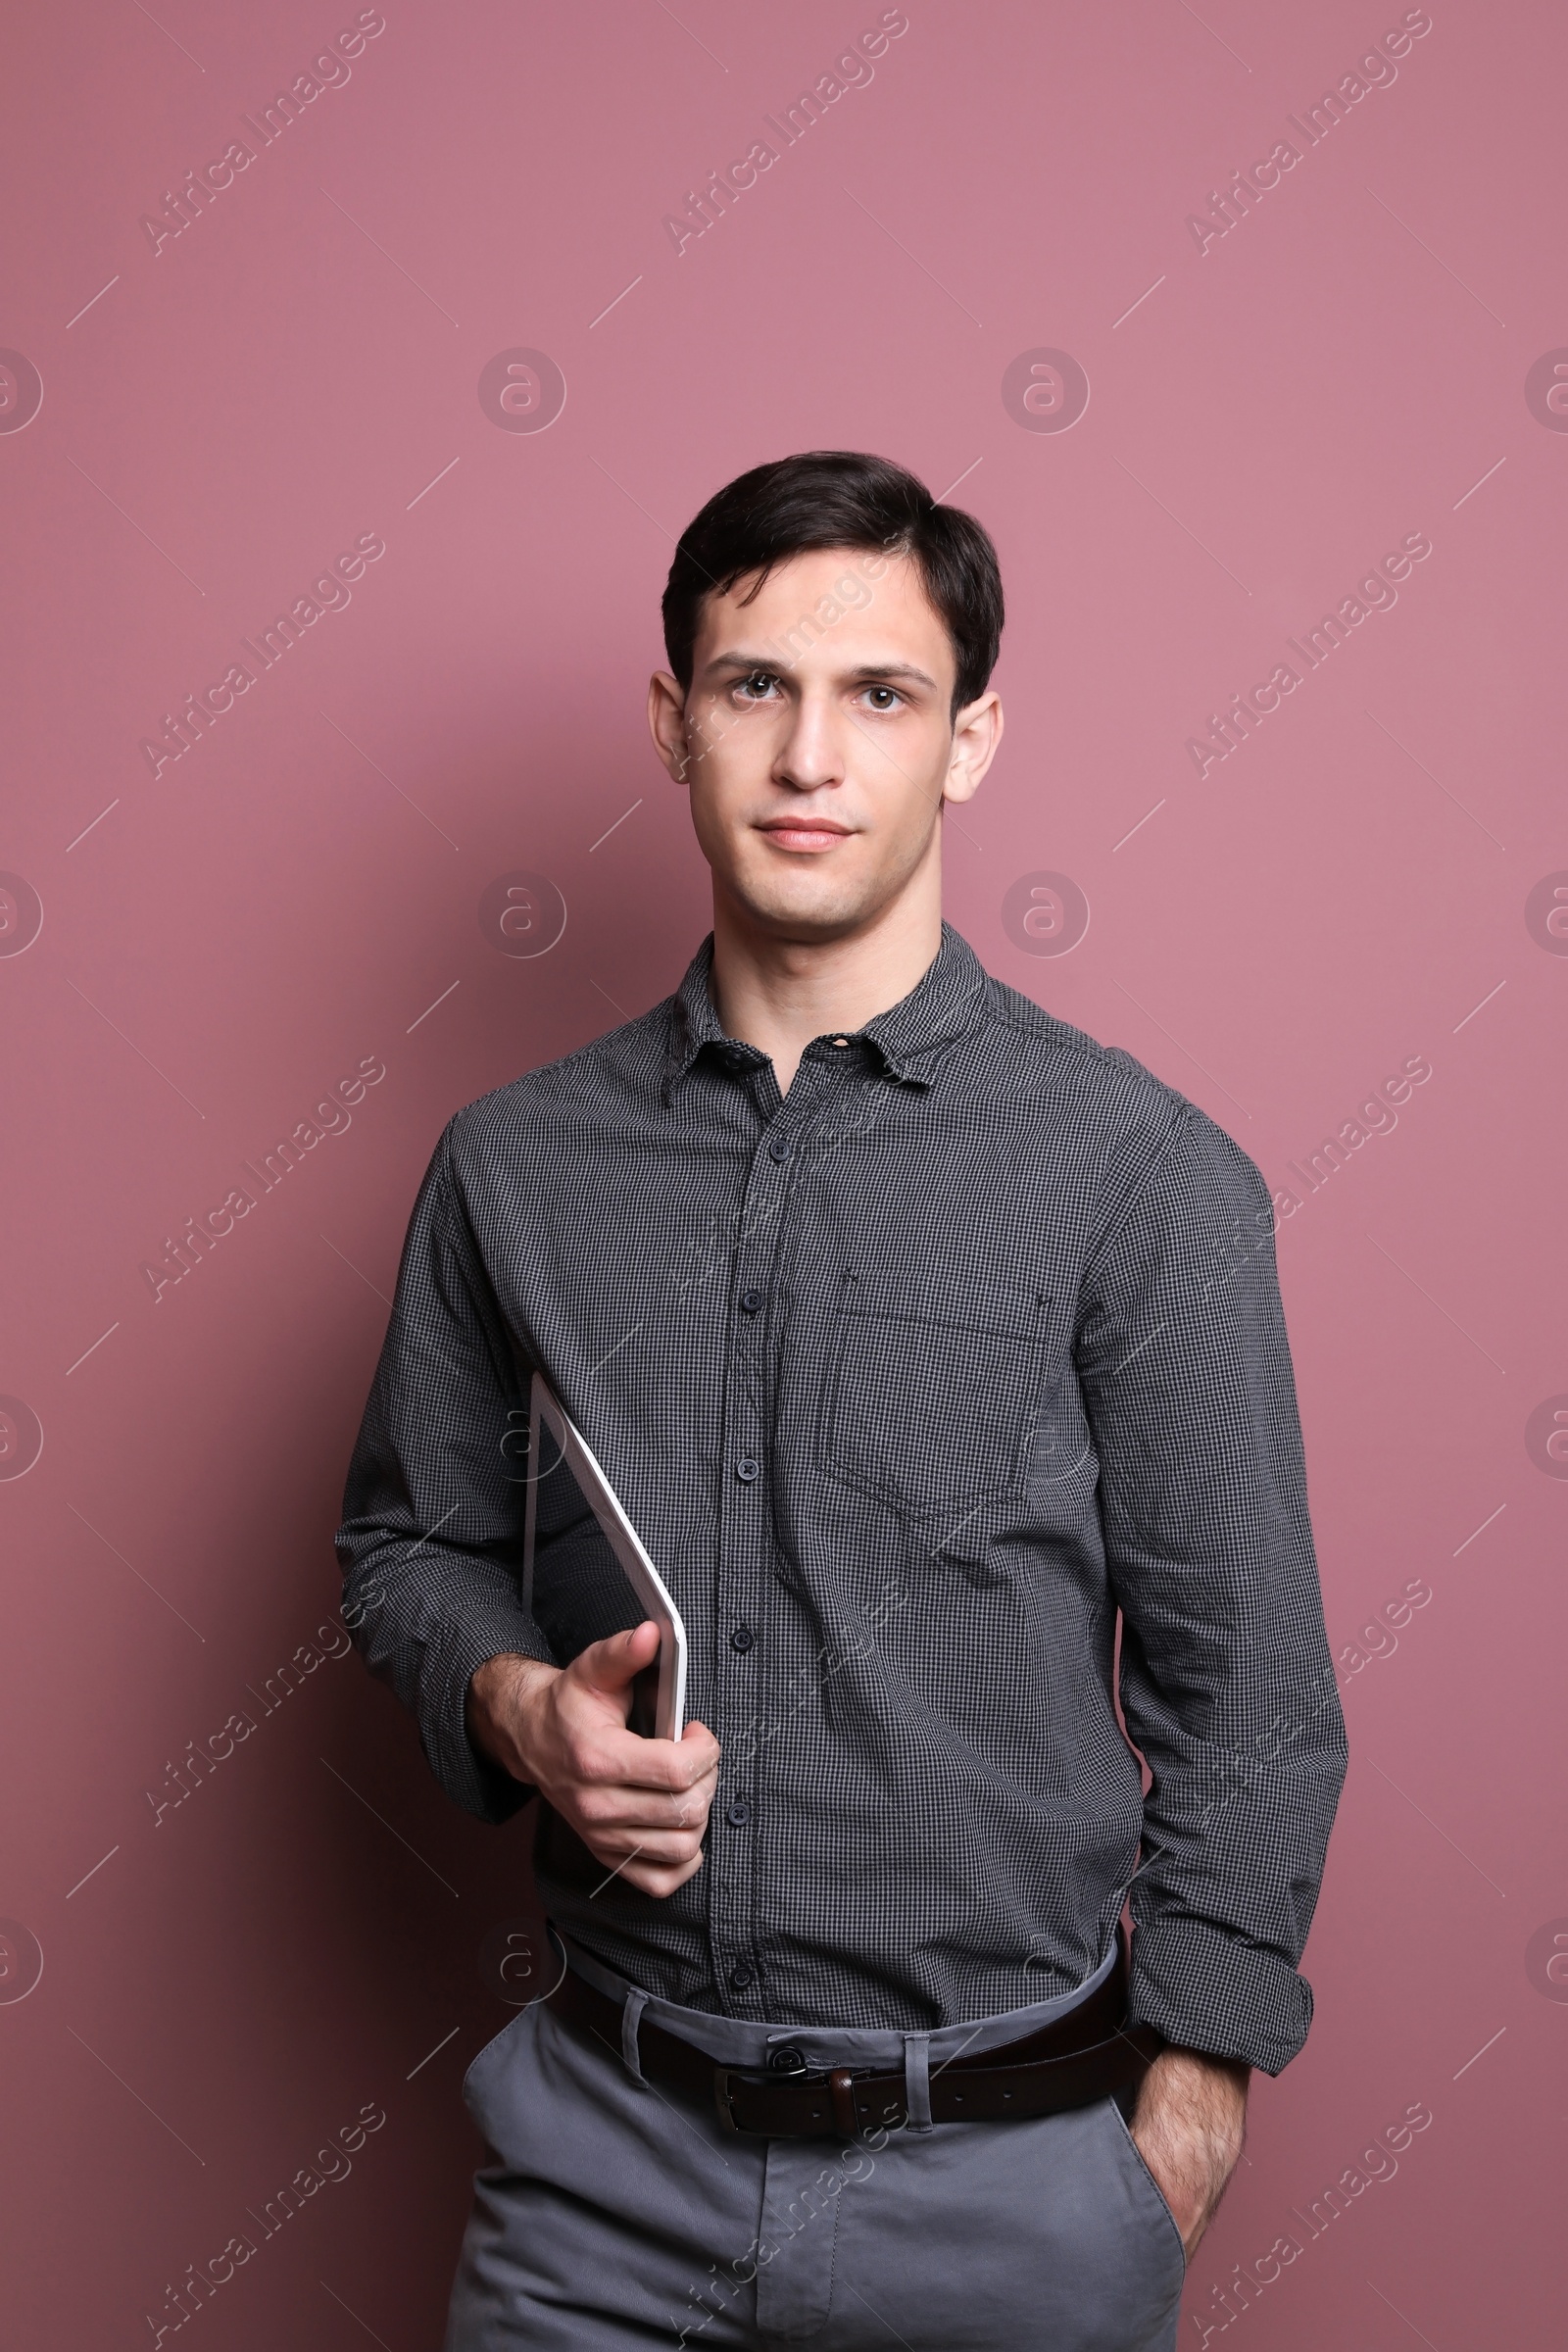
M 1154 1912 L 1135 1917 L 1128 2009 L 1178 2049 L 1279 2074 L 1307 2039 L 1312 1985 L 1279 1952 Z

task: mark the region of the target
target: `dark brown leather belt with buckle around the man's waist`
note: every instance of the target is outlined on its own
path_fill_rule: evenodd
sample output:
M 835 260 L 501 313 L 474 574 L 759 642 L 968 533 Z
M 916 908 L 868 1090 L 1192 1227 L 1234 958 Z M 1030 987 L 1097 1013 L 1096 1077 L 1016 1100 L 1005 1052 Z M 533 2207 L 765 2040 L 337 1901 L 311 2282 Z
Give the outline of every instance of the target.
M 621 2004 L 567 1971 L 550 2009 L 621 2056 Z M 1164 2049 L 1152 2025 L 1126 2025 L 1126 1945 L 1086 2002 L 1053 2025 L 976 2056 L 931 2067 L 933 2124 L 999 2124 L 1011 2117 L 1088 2107 L 1140 2082 Z M 696 2044 L 651 2025 L 637 2027 L 637 2058 L 649 2082 L 712 2105 L 726 2131 L 769 2140 L 844 2138 L 907 2124 L 905 2077 L 875 2067 L 811 2067 L 783 2044 L 766 2070 L 719 2065 Z

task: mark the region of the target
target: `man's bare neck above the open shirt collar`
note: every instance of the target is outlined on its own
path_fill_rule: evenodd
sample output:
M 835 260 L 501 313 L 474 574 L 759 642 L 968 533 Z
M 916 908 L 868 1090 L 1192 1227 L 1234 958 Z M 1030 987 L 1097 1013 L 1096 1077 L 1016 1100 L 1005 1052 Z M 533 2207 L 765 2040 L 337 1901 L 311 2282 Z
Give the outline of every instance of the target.
M 898 1004 L 940 943 L 938 870 L 863 929 L 825 941 L 780 938 L 715 891 L 712 1000 L 726 1035 L 766 1054 L 788 1094 L 813 1037 L 849 1035 Z

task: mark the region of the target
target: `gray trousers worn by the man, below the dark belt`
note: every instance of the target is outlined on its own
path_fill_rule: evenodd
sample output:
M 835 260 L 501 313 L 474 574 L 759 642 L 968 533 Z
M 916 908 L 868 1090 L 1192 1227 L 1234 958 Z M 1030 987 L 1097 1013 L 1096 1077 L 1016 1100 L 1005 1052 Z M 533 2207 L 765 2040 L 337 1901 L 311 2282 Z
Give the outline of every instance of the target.
M 1063 2016 L 1060 2002 L 933 2034 L 745 2025 L 623 1999 L 621 2049 L 534 2002 L 468 2067 L 491 2159 L 475 2178 L 444 2352 L 1173 2352 L 1180 2232 L 1114 2100 L 1006 2124 L 762 2140 L 642 2079 L 637 2027 L 724 2065 L 778 2042 L 811 2065 L 929 2070 Z

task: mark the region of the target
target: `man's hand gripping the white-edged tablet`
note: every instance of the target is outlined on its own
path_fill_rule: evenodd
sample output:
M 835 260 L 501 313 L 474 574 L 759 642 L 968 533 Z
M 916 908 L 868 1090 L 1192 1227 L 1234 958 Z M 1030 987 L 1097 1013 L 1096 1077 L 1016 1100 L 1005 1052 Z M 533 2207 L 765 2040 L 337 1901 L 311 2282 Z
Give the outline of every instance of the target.
M 656 1656 L 649 1618 L 567 1668 L 491 1658 L 468 1684 L 468 1731 L 548 1797 L 595 1860 L 649 1896 L 672 1896 L 703 1867 L 719 1743 L 703 1724 L 686 1724 L 679 1740 L 625 1729 L 632 1682 Z

